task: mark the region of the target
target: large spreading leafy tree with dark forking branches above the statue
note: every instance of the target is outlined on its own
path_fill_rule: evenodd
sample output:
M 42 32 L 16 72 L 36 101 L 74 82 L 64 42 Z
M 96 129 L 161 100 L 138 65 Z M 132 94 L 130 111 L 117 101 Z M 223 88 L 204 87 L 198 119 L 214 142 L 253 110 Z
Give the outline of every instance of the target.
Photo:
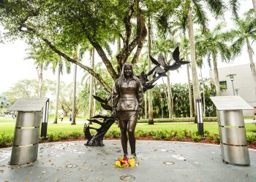
M 40 39 L 50 49 L 71 63 L 75 63 L 88 71 L 104 87 L 111 92 L 110 85 L 89 66 L 71 58 L 69 47 L 90 42 L 113 80 L 118 78 L 120 68 L 128 59 L 132 64 L 138 62 L 138 57 L 146 39 L 144 17 L 148 12 L 147 4 L 155 7 L 151 14 L 159 16 L 159 11 L 165 9 L 174 12 L 180 0 L 173 1 L 3 1 L 0 6 L 1 23 L 6 28 L 4 38 L 15 39 L 23 37 L 26 40 Z M 69 5 L 67 5 L 69 4 Z M 143 9 L 141 9 L 143 7 Z M 106 54 L 105 45 L 115 37 L 122 40 L 121 51 L 112 62 Z M 115 70 L 116 68 L 119 68 Z

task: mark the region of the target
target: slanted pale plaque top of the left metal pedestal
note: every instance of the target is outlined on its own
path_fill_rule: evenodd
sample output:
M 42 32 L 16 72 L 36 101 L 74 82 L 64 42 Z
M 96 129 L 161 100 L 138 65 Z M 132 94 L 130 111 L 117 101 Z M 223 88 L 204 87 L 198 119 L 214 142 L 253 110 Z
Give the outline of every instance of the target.
M 48 98 L 20 98 L 7 111 L 41 111 Z

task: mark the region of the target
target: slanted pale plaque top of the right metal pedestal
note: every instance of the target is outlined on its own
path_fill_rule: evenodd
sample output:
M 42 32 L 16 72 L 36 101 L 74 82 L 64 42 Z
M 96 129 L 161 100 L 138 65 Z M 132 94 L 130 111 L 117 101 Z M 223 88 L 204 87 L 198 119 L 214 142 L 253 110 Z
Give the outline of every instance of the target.
M 252 106 L 246 103 L 240 96 L 216 96 L 210 98 L 219 111 L 253 109 Z

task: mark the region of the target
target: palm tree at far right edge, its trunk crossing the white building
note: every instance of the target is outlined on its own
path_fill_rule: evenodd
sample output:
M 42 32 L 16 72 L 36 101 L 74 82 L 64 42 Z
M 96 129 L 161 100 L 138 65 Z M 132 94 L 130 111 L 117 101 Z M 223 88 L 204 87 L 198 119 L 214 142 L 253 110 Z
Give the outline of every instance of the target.
M 245 17 L 243 19 L 234 19 L 236 28 L 229 31 L 227 36 L 230 39 L 235 39 L 231 45 L 234 57 L 239 55 L 244 45 L 246 45 L 256 93 L 256 70 L 255 63 L 252 58 L 252 41 L 256 40 L 256 18 L 252 16 L 252 11 L 246 12 L 244 16 Z

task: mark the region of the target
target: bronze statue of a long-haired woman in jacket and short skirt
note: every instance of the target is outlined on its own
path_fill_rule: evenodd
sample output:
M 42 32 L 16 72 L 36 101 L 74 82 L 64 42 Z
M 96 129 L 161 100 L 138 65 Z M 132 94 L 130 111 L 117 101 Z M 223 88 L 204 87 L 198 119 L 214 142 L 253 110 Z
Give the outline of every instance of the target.
M 143 87 L 133 73 L 131 63 L 124 63 L 121 76 L 116 79 L 112 92 L 113 115 L 118 119 L 121 130 L 121 145 L 127 158 L 127 132 L 131 154 L 135 153 L 135 127 L 143 107 Z

